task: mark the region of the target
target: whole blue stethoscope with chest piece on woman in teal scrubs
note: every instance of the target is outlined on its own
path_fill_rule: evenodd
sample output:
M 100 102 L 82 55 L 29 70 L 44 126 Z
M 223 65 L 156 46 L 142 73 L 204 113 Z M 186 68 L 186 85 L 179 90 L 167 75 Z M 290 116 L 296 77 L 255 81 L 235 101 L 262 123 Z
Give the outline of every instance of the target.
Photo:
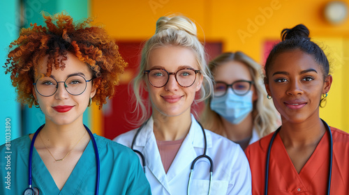
M 33 136 L 33 139 L 31 139 L 30 150 L 29 150 L 29 166 L 28 166 L 28 172 L 29 172 L 29 178 L 28 178 L 29 184 L 28 185 L 29 185 L 29 187 L 24 190 L 23 195 L 38 195 L 39 194 L 39 189 L 37 187 L 31 186 L 31 159 L 33 157 L 33 149 L 34 149 L 35 139 L 38 136 L 38 133 L 40 132 L 40 130 L 43 129 L 44 126 L 45 126 L 45 124 L 41 125 L 41 127 L 39 127 L 38 130 L 36 130 L 36 132 Z M 89 128 L 86 125 L 84 125 L 84 127 L 87 130 L 87 132 L 89 132 L 89 136 L 91 137 L 92 143 L 94 144 L 94 153 L 96 155 L 96 164 L 97 164 L 95 194 L 98 195 L 100 166 L 99 166 L 99 155 L 98 155 L 97 143 L 96 143 L 96 140 L 94 139 L 94 135 L 89 130 Z

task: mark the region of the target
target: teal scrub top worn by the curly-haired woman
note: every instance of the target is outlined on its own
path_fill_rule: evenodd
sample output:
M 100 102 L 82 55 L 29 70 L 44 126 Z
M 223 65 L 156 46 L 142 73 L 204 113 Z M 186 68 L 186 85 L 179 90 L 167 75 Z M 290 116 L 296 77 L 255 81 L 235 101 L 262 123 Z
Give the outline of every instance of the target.
M 101 174 L 99 194 L 151 194 L 147 178 L 133 150 L 94 134 Z M 28 187 L 29 136 L 20 137 L 0 146 L 0 194 L 23 194 Z M 64 187 L 59 191 L 50 172 L 34 148 L 32 186 L 40 195 L 94 194 L 96 187 L 96 156 L 92 141 L 82 153 Z

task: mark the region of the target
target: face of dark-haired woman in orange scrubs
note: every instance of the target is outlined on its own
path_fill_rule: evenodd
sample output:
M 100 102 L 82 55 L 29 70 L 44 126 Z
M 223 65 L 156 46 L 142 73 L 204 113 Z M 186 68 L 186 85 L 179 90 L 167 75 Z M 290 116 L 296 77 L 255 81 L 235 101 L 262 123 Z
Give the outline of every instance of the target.
M 302 123 L 319 118 L 321 95 L 329 91 L 332 76 L 324 73 L 313 57 L 300 50 L 275 57 L 268 70 L 267 92 L 280 112 L 283 123 Z

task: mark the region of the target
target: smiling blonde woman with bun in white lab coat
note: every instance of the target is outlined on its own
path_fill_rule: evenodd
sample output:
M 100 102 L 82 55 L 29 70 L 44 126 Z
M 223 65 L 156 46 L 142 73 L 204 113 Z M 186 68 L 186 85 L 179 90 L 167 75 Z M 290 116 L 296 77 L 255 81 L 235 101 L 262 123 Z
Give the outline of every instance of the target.
M 142 126 L 114 141 L 141 154 L 152 194 L 251 194 L 251 171 L 242 148 L 204 130 L 191 114 L 192 104 L 205 100 L 213 88 L 196 33 L 187 17 L 156 22 L 133 83 Z

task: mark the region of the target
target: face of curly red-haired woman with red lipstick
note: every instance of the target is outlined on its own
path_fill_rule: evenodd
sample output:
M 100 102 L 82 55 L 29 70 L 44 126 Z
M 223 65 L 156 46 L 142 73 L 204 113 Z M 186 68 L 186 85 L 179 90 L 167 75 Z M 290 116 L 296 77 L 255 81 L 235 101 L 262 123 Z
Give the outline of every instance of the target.
M 85 80 L 92 78 L 91 70 L 89 67 L 73 54 L 68 53 L 68 59 L 64 61 L 66 63 L 66 68 L 64 70 L 56 70 L 53 68 L 52 74 L 50 77 L 42 77 L 47 70 L 47 56 L 45 56 L 39 63 L 38 66 L 38 75 L 36 75 L 36 89 L 41 88 L 41 95 L 38 93 L 38 90 L 34 89 L 34 98 L 38 101 L 41 111 L 45 114 L 46 123 L 54 123 L 56 125 L 68 125 L 75 121 L 82 123 L 82 114 L 89 104 L 89 98 L 94 97 L 96 93 L 96 88 L 92 87 L 92 81 L 87 82 L 86 89 L 80 95 L 71 95 L 70 93 L 82 92 L 76 89 L 77 84 L 80 84 L 80 81 L 83 81 L 82 77 Z M 74 75 L 75 79 L 70 77 Z M 37 81 L 40 78 L 39 81 Z M 66 80 L 67 79 L 67 80 Z M 45 97 L 43 89 L 54 87 L 54 80 L 58 83 L 57 91 L 48 97 Z M 64 81 L 66 81 L 67 89 L 64 88 Z M 84 85 L 84 84 L 83 84 Z M 75 88 L 74 88 L 75 87 Z M 48 93 L 47 93 L 48 95 Z

